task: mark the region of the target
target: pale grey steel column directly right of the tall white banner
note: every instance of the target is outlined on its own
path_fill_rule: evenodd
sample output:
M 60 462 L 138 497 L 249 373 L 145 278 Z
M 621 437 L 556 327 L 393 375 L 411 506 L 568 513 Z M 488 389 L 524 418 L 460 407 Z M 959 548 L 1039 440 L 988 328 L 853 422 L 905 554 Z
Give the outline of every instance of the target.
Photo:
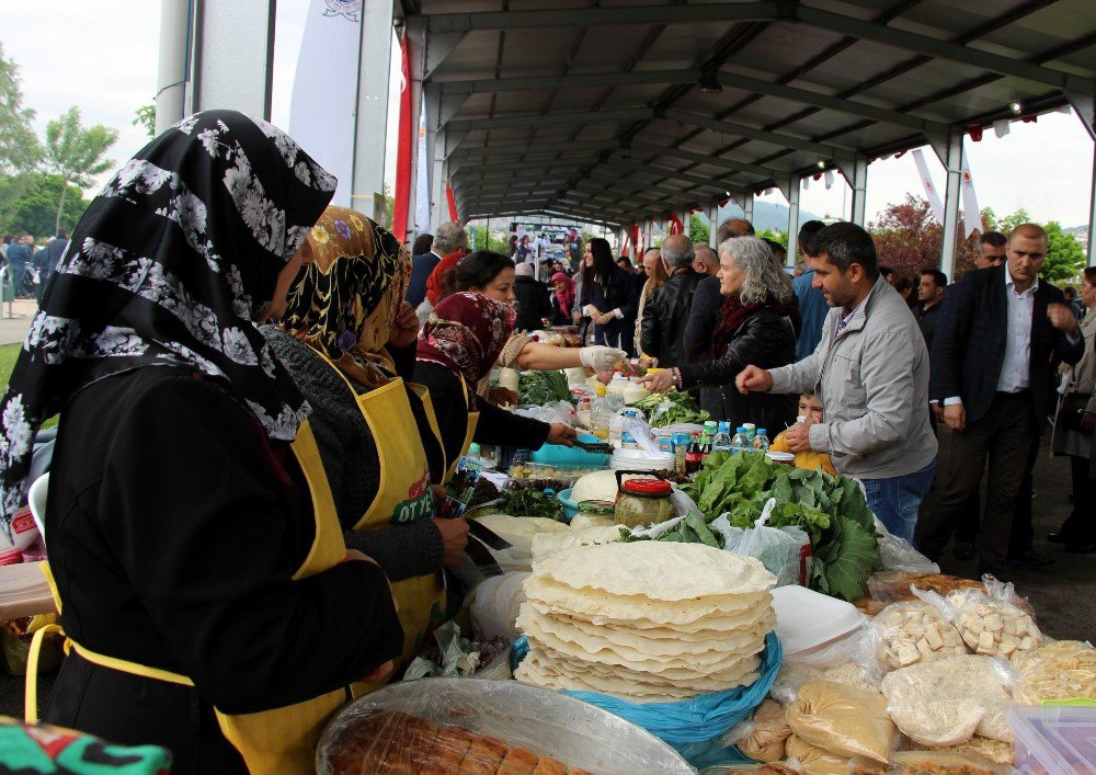
M 388 73 L 392 58 L 392 2 L 362 3 L 362 47 L 358 50 L 357 105 L 354 115 L 354 168 L 351 206 L 373 213 L 374 194 L 385 191 L 385 146 L 388 133 Z M 410 87 L 410 84 L 407 84 Z M 404 235 L 398 236 L 403 239 Z

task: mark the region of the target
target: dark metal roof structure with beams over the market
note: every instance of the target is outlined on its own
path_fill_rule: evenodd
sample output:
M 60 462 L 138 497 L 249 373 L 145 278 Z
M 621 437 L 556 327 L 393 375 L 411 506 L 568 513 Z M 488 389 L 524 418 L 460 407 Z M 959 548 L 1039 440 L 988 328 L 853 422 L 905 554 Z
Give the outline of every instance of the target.
M 928 144 L 948 171 L 948 244 L 964 135 L 1072 105 L 1096 139 L 1094 0 L 397 0 L 397 24 L 401 11 L 430 161 L 464 219 L 624 226 L 729 196 L 749 214 L 770 187 L 795 215 L 802 179 L 836 170 L 863 223 L 868 163 Z

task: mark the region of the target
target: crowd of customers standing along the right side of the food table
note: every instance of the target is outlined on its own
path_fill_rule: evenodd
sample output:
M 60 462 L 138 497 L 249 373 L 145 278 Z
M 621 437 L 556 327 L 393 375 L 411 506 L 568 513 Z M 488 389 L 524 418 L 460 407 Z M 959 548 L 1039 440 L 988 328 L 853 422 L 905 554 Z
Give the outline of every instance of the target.
M 891 533 L 933 558 L 954 539 L 957 559 L 1001 578 L 1053 561 L 1032 548 L 1030 506 L 1049 413 L 1074 512 L 1048 539 L 1096 550 L 1096 272 L 1080 296 L 1040 282 L 1047 236 L 1032 224 L 981 235 L 975 270 L 950 285 L 936 267 L 914 280 L 879 265 L 852 224 L 804 224 L 790 274 L 783 246 L 744 219 L 721 224 L 716 242 L 672 235 L 633 265 L 591 239 L 552 288 L 520 265 L 520 328 L 570 310 L 584 338 L 655 358 L 665 371 L 649 388 L 688 390 L 713 419 L 779 433 L 781 448 L 859 479 Z M 821 401 L 824 419 L 797 422 L 797 401 Z M 939 498 L 923 509 L 933 487 Z

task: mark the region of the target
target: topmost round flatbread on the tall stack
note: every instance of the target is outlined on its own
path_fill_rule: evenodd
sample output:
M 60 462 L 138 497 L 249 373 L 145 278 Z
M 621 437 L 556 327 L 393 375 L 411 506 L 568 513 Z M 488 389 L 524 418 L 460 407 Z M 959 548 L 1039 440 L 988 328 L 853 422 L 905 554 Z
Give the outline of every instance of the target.
M 776 577 L 758 560 L 704 544 L 636 542 L 580 546 L 537 563 L 535 578 L 571 589 L 685 602 L 767 592 Z

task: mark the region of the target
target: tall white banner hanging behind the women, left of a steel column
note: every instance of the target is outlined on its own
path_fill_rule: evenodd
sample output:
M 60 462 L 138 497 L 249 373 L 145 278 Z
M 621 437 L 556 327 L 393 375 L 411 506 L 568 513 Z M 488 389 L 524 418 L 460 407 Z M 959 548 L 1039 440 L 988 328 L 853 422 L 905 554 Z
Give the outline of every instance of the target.
M 353 206 L 350 194 L 361 45 L 361 0 L 311 0 L 293 79 L 289 135 L 339 179 L 331 204 L 343 207 Z

